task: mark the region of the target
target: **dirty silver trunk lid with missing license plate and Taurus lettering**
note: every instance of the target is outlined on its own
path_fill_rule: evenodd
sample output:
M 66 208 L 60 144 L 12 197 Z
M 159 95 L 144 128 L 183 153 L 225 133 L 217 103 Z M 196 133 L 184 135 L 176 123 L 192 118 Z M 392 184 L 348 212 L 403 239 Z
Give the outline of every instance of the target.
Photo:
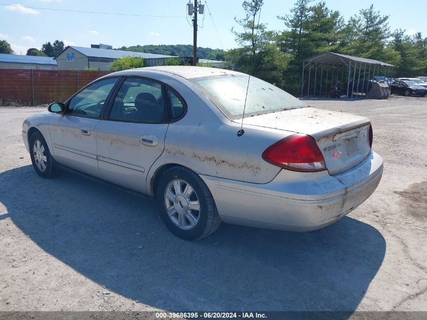
M 243 123 L 311 135 L 329 174 L 354 167 L 370 152 L 369 119 L 348 113 L 308 107 L 252 116 Z

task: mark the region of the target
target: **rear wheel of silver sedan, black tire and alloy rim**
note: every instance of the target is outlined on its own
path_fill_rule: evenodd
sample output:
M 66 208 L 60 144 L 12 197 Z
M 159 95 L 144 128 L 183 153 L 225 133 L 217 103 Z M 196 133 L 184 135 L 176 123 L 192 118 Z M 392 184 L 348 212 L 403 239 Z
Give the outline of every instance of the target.
M 205 238 L 221 223 L 208 186 L 200 176 L 184 167 L 172 167 L 163 173 L 156 202 L 170 232 L 185 240 Z

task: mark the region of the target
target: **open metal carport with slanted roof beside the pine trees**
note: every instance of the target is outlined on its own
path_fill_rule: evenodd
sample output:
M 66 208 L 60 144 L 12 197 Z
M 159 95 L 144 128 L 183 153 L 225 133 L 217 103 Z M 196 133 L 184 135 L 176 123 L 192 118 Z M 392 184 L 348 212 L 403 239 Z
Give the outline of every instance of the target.
M 393 67 L 394 65 L 382 61 L 347 56 L 333 52 L 325 52 L 313 56 L 303 61 L 301 98 L 326 97 L 328 95 L 328 88 L 338 83 L 338 81 L 341 83 L 341 88 L 347 89 L 347 99 L 353 98 L 353 95 L 355 95 L 356 98 L 362 98 L 365 80 L 369 81 L 371 76 L 372 78 L 378 76 L 389 78 L 393 75 Z M 305 73 L 308 73 L 308 80 L 306 82 L 304 82 Z M 312 73 L 314 73 L 314 77 Z M 325 77 L 323 77 L 324 74 Z M 360 87 L 361 92 L 359 92 L 361 76 L 363 80 Z M 355 82 L 356 78 L 357 86 Z M 344 87 L 342 86 L 343 79 L 347 81 L 347 85 Z M 352 88 L 350 88 L 350 86 Z M 366 87 L 368 88 L 368 83 Z M 341 91 L 343 94 L 346 93 L 345 90 L 344 92 L 343 90 Z M 305 96 L 304 93 L 306 93 Z

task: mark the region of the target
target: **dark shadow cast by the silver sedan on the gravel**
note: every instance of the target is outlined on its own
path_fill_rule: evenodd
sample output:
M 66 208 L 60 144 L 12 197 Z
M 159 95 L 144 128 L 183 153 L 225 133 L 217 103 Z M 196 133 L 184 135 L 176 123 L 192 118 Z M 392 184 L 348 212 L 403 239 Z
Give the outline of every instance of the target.
M 0 189 L 43 250 L 113 294 L 166 310 L 352 311 L 386 251 L 375 228 L 349 217 L 310 233 L 222 224 L 187 242 L 154 202 L 72 173 L 45 180 L 20 167 L 0 173 Z

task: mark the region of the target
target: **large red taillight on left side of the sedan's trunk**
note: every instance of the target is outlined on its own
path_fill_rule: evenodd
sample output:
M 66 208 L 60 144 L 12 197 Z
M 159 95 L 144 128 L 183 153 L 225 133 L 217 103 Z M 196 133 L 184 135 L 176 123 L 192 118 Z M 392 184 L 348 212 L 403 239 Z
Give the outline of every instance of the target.
M 276 166 L 294 171 L 326 170 L 325 159 L 319 147 L 307 134 L 292 134 L 271 145 L 262 158 Z

